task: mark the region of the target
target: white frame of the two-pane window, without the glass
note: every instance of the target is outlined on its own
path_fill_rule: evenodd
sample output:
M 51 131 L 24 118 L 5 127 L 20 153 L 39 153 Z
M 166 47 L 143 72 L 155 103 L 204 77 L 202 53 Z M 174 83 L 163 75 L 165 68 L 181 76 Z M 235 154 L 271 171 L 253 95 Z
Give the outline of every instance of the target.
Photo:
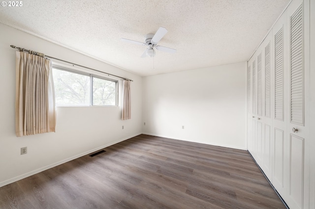
M 90 77 L 90 104 L 89 105 L 56 105 L 56 106 L 61 106 L 61 107 L 82 107 L 82 106 L 100 106 L 100 107 L 109 107 L 109 106 L 119 106 L 119 80 L 118 79 L 113 79 L 113 78 L 107 78 L 106 76 L 94 74 L 92 72 L 84 71 L 84 70 L 79 70 L 78 68 L 75 67 L 67 67 L 67 66 L 61 66 L 57 63 L 53 63 L 52 69 L 57 69 L 57 70 L 62 70 L 74 74 L 79 74 L 83 76 L 88 76 Z M 105 74 L 105 73 L 104 73 Z M 98 79 L 103 79 L 103 80 L 108 80 L 112 81 L 115 83 L 115 104 L 113 105 L 94 105 L 93 104 L 93 78 L 98 78 Z

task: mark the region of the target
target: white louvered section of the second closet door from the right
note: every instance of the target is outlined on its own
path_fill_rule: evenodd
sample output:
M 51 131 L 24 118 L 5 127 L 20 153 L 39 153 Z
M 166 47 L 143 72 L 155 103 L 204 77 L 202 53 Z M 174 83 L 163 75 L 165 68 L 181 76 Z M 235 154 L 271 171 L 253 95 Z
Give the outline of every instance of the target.
M 275 119 L 284 120 L 284 37 L 283 28 L 275 35 Z

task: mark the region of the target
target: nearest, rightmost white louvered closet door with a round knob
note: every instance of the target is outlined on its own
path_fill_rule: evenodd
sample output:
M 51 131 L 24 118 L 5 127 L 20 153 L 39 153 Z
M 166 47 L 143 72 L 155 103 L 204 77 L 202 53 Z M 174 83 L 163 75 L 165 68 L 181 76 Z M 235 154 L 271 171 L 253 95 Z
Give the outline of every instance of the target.
M 292 1 L 287 9 L 289 33 L 289 69 L 288 69 L 288 119 L 287 141 L 289 160 L 288 204 L 290 208 L 305 208 L 303 195 L 308 190 L 308 179 L 305 176 L 305 143 L 307 130 L 305 127 L 305 77 L 303 52 L 303 4 Z M 307 188 L 305 188 L 305 186 Z M 308 208 L 308 207 L 306 207 Z

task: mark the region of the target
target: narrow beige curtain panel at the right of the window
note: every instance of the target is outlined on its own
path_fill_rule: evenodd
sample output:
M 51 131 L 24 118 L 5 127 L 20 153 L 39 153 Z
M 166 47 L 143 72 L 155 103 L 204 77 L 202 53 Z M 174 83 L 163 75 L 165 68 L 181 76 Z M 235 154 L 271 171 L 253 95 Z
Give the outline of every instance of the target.
M 123 110 L 122 120 L 131 119 L 130 80 L 123 80 Z

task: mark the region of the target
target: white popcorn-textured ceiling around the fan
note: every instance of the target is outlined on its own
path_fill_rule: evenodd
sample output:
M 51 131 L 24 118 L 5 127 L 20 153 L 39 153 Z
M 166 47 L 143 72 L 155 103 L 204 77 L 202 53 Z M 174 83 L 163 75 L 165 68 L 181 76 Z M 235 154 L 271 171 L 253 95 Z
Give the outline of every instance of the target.
M 0 22 L 148 76 L 248 60 L 288 2 L 24 0 L 21 7 L 1 6 Z M 120 40 L 143 42 L 159 26 L 168 33 L 158 45 L 176 53 L 141 58 L 145 46 Z

